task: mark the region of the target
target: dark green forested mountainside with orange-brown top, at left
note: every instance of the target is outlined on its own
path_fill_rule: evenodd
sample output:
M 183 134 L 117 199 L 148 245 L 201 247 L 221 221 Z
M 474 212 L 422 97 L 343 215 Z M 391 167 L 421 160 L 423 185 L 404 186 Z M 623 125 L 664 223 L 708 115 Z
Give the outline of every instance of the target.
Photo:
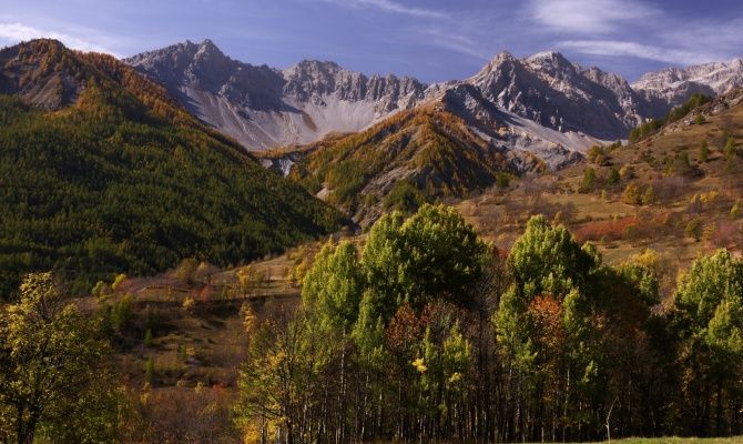
M 185 258 L 235 264 L 343 222 L 114 58 L 0 50 L 0 295 L 31 270 L 84 292 Z

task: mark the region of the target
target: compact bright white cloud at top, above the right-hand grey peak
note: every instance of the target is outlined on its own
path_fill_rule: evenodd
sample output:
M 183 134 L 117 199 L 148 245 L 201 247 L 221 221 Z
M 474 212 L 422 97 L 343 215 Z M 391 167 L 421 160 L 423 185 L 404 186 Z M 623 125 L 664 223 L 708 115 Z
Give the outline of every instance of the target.
M 609 33 L 658 14 L 633 0 L 532 0 L 527 16 L 549 29 L 576 33 Z

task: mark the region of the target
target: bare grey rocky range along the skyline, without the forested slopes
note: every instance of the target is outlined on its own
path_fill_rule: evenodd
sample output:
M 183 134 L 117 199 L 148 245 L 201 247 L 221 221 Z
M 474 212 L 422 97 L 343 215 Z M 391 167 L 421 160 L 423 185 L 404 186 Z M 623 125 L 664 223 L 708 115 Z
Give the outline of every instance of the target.
M 435 84 L 367 77 L 334 62 L 305 60 L 285 70 L 252 65 L 225 56 L 210 40 L 124 61 L 248 150 L 358 132 L 438 101 L 486 141 L 535 153 L 551 168 L 569 162 L 571 152 L 627 138 L 632 128 L 664 115 L 693 93 L 719 94 L 743 83 L 740 59 L 648 73 L 630 84 L 553 51 L 522 59 L 501 52 L 469 79 Z

